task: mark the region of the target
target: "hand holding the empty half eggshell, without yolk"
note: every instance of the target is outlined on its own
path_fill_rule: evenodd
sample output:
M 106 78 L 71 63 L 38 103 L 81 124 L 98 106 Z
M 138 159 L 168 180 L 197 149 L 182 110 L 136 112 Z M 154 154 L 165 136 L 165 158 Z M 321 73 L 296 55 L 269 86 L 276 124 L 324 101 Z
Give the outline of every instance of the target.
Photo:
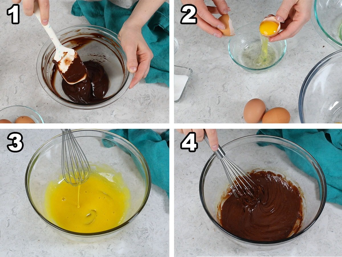
M 222 37 L 222 32 L 218 30 L 225 29 L 223 22 L 219 21 L 212 14 L 220 13 L 228 14 L 231 8 L 228 7 L 226 1 L 224 0 L 213 0 L 216 6 L 207 6 L 204 0 L 181 0 L 183 4 L 193 4 L 197 8 L 197 26 L 200 27 L 205 32 L 213 35 L 215 37 Z

